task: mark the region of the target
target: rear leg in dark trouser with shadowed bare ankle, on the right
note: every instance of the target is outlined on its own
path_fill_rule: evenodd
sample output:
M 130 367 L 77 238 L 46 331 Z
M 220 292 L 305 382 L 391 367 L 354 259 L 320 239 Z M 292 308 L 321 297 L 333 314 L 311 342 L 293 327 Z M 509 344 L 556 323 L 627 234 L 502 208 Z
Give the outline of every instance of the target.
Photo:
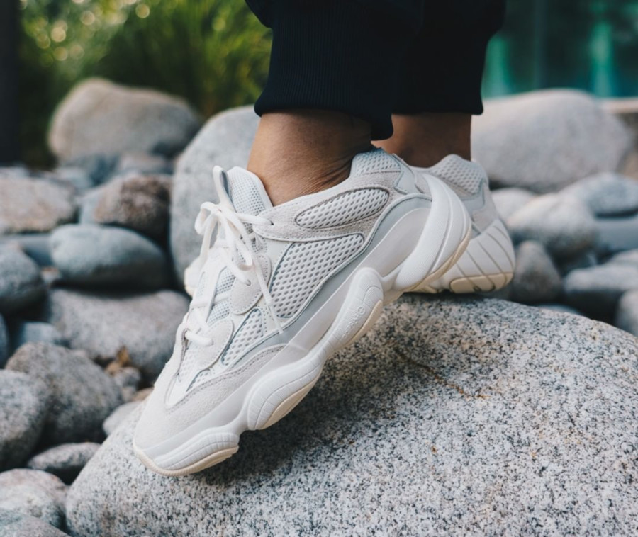
M 483 111 L 486 47 L 504 13 L 505 0 L 428 4 L 401 64 L 393 136 L 376 145 L 413 166 L 433 166 L 448 154 L 471 157 L 471 116 Z

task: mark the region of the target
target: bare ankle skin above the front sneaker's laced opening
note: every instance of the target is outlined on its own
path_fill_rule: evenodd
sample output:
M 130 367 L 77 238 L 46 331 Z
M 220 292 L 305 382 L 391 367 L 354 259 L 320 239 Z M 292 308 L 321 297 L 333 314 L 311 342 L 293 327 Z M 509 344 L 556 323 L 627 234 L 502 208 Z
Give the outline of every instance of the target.
M 354 155 L 372 148 L 370 124 L 323 110 L 262 115 L 248 170 L 273 205 L 335 186 L 348 178 Z

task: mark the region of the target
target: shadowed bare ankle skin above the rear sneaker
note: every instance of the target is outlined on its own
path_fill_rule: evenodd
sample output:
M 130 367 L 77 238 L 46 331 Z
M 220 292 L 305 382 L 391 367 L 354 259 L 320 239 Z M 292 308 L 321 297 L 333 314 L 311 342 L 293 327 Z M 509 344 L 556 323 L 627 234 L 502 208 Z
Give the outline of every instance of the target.
M 394 134 L 374 142 L 388 153 L 398 154 L 410 166 L 434 166 L 449 154 L 471 159 L 472 116 L 458 113 L 393 115 Z

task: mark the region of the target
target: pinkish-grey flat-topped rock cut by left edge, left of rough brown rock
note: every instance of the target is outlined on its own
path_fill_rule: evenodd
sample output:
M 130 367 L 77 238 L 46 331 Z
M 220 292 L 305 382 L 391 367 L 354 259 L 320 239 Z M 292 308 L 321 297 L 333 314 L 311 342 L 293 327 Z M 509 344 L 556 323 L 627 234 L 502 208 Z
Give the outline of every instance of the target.
M 65 183 L 0 175 L 0 235 L 37 233 L 72 222 L 74 190 Z

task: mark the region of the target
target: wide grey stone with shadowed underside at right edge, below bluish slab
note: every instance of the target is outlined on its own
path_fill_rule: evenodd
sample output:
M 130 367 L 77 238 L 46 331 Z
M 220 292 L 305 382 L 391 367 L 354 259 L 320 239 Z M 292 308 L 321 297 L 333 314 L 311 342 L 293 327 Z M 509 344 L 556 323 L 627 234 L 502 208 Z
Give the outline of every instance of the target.
M 608 319 L 618 300 L 638 288 L 638 266 L 605 263 L 571 271 L 563 280 L 564 301 L 595 319 Z

